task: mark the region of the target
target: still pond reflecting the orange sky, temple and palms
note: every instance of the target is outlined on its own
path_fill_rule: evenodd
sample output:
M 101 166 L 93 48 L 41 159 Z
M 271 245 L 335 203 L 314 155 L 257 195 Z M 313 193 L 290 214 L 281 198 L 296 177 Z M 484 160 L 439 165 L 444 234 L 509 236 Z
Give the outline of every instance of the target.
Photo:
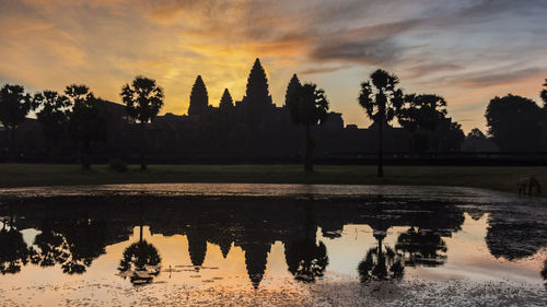
M 7 306 L 545 306 L 546 203 L 477 189 L 0 191 Z

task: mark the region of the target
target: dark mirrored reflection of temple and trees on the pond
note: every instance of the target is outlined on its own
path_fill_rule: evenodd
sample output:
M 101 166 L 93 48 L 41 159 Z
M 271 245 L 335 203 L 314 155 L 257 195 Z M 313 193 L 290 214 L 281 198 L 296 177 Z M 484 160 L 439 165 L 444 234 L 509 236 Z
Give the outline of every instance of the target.
M 477 220 L 488 213 L 486 246 L 494 257 L 522 259 L 547 246 L 545 223 L 524 216 L 526 211 L 519 216 L 455 202 L 63 197 L 0 205 L 0 216 L 7 216 L 0 231 L 0 269 L 2 274 L 18 273 L 31 262 L 37 268 L 58 267 L 66 274 L 83 274 L 108 246 L 128 241 L 138 226 L 138 241 L 128 243 L 115 256 L 119 261 L 115 268 L 135 285 L 152 283 L 162 271 L 162 250 L 153 238 L 143 238 L 147 225 L 152 234 L 185 236 L 187 251 L 178 252 L 187 252 L 195 274 L 208 269 L 203 264 L 209 244 L 220 248 L 223 259 L 241 248 L 246 279 L 259 288 L 272 246 L 279 241 L 292 278 L 313 283 L 325 276 L 331 262 L 328 241 L 340 240 L 347 225 L 368 225 L 372 236 L 366 235 L 375 244 L 360 247 L 365 252 L 353 267 L 356 274 L 362 282 L 399 280 L 408 268 L 442 267 L 450 260 L 446 241 L 462 229 L 466 212 Z M 30 228 L 37 234 L 27 246 L 21 229 Z M 387 240 L 394 228 L 403 231 Z

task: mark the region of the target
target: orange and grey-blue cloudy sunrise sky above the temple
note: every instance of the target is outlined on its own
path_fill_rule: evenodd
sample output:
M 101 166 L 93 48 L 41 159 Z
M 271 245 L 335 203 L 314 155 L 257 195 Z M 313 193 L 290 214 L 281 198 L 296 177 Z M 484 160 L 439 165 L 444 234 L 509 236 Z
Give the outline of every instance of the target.
M 142 74 L 164 88 L 161 113 L 182 115 L 198 74 L 211 105 L 224 88 L 240 101 L 260 58 L 276 105 L 296 73 L 368 127 L 360 83 L 382 68 L 405 93 L 445 97 L 468 132 L 497 95 L 540 104 L 546 16 L 545 0 L 0 0 L 0 84 L 86 84 L 120 103 Z

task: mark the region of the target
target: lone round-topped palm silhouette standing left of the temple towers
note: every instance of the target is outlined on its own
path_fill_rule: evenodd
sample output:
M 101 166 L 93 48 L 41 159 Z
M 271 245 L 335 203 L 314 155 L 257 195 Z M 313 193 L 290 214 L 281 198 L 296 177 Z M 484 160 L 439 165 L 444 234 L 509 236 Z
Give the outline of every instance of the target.
M 140 169 L 147 169 L 144 128 L 152 121 L 163 106 L 163 90 L 155 80 L 137 75 L 131 85 L 121 87 L 121 99 L 127 114 L 140 123 L 141 164 Z

